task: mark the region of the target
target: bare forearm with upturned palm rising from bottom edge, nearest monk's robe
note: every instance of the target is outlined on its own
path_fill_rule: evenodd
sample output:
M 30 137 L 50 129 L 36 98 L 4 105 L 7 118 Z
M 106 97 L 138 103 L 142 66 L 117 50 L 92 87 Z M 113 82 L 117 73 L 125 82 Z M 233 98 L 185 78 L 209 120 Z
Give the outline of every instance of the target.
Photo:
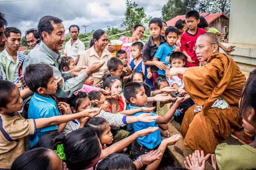
M 163 141 L 161 142 L 161 144 L 159 145 L 157 150 L 161 150 L 161 152 L 164 153 L 164 151 L 166 150 L 166 147 L 168 145 L 175 144 L 180 139 L 180 137 L 181 137 L 180 134 L 176 134 L 176 135 L 173 135 L 173 136 L 171 136 L 169 138 L 163 139 Z M 160 156 L 160 159 L 157 159 L 153 163 L 149 164 L 146 167 L 146 170 L 156 170 L 157 167 L 159 166 L 160 161 L 162 160 L 162 158 L 163 158 L 163 155 Z

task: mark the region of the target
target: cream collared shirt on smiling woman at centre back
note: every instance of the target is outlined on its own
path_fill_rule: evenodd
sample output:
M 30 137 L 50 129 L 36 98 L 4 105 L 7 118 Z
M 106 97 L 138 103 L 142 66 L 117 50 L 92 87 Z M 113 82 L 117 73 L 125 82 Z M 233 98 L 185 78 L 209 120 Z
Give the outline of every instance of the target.
M 94 45 L 93 45 L 91 48 L 82 52 L 77 65 L 78 66 L 83 66 L 83 65 L 89 66 L 89 65 L 93 64 L 94 62 L 100 62 L 101 60 L 105 61 L 104 65 L 99 69 L 99 71 L 93 73 L 93 77 L 101 78 L 104 73 L 108 72 L 107 62 L 111 57 L 113 57 L 112 54 L 106 49 L 104 49 L 102 51 L 102 55 L 99 56 L 96 53 L 96 51 L 94 49 Z

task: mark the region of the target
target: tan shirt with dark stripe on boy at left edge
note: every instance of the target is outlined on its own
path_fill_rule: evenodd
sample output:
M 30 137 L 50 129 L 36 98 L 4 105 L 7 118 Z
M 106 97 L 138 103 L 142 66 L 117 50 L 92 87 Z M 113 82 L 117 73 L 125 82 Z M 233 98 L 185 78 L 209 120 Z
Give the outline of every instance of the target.
M 35 120 L 0 114 L 0 169 L 11 169 L 12 162 L 29 149 L 29 134 L 35 133 Z

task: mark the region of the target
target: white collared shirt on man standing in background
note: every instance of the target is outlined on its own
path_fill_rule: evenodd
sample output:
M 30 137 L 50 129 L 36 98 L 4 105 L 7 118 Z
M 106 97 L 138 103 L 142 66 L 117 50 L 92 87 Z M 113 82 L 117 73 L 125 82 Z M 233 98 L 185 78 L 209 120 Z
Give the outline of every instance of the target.
M 79 39 L 77 39 L 73 45 L 71 45 L 71 39 L 70 39 L 65 44 L 64 53 L 66 53 L 67 56 L 70 56 L 75 60 L 78 55 L 81 55 L 84 49 L 85 49 L 84 43 L 81 42 Z

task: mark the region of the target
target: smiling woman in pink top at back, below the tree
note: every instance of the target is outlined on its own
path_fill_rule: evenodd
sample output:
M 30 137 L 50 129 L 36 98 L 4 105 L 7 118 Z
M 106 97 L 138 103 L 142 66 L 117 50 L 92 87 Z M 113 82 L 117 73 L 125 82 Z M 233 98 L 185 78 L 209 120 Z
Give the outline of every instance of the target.
M 127 53 L 127 65 L 130 64 L 130 58 L 131 58 L 131 44 L 136 41 L 140 41 L 140 39 L 143 37 L 145 28 L 141 24 L 135 24 L 132 28 L 132 35 L 131 37 L 125 37 L 122 36 L 119 38 L 123 42 L 122 44 L 122 50 L 125 50 Z M 140 41 L 142 42 L 142 41 Z M 144 42 L 143 42 L 144 44 Z

